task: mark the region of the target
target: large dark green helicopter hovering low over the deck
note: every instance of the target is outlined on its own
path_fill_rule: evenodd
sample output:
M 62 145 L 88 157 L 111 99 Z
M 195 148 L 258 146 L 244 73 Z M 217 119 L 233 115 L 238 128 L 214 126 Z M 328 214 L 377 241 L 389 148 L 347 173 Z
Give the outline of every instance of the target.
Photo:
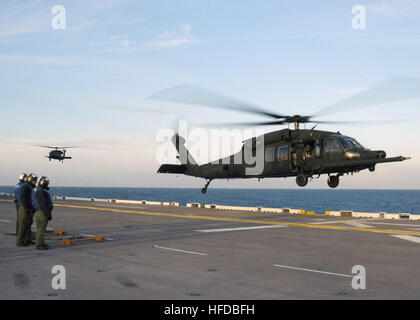
M 389 83 L 382 85 L 382 87 L 379 86 L 379 91 L 383 88 L 386 89 L 388 86 Z M 419 86 L 414 87 L 417 90 L 419 88 Z M 378 90 L 378 88 L 375 88 L 375 90 Z M 418 97 L 419 91 L 416 92 L 414 97 Z M 370 95 L 370 99 L 368 100 L 369 103 L 372 104 L 372 92 L 368 92 L 367 94 Z M 363 100 L 365 95 L 366 93 L 362 93 L 360 94 L 361 97 L 357 97 L 357 99 L 361 98 Z M 339 185 L 340 177 L 344 174 L 353 175 L 354 173 L 366 169 L 373 172 L 375 171 L 376 165 L 379 163 L 400 162 L 410 159 L 409 157 L 403 156 L 387 158 L 385 151 L 367 149 L 356 139 L 343 135 L 340 132 L 315 130 L 318 124 L 352 123 L 348 121 L 317 121 L 314 118 L 320 115 L 342 112 L 343 110 L 347 111 L 349 109 L 348 104 L 357 99 L 347 101 L 348 104 L 335 104 L 332 107 L 321 110 L 313 116 L 290 116 L 267 111 L 254 104 L 242 102 L 192 85 L 182 85 L 167 89 L 151 96 L 150 99 L 235 110 L 257 114 L 271 119 L 268 121 L 240 124 L 222 123 L 220 126 L 289 126 L 287 129 L 263 135 L 264 169 L 263 172 L 258 175 L 246 174 L 246 169 L 250 166 L 245 164 L 245 161 L 242 161 L 242 164 L 234 164 L 234 159 L 237 155 L 231 155 L 227 158 L 220 159 L 218 162 L 214 161 L 212 163 L 198 165 L 191 155 L 188 155 L 188 150 L 186 150 L 184 145 L 185 139 L 176 134 L 173 137 L 173 142 L 178 154 L 184 153 L 188 155 L 186 163 L 180 165 L 164 164 L 158 169 L 158 173 L 184 174 L 204 178 L 206 179 L 206 184 L 201 190 L 202 193 L 206 193 L 209 184 L 215 179 L 296 177 L 297 185 L 305 187 L 308 184 L 309 179 L 314 177 L 319 178 L 323 174 L 328 175 L 328 186 L 336 188 Z M 395 101 L 397 99 L 389 100 Z M 380 103 L 381 101 L 379 99 L 379 101 L 373 102 Z M 361 107 L 360 104 L 357 107 Z M 301 128 L 301 126 L 308 123 L 314 123 L 316 125 L 311 129 Z M 291 125 L 294 126 L 293 129 L 290 129 Z M 244 145 L 240 151 L 242 155 L 239 155 L 242 156 L 243 160 L 245 143 L 252 143 L 252 151 L 255 152 L 257 141 L 258 137 L 252 138 L 249 141 L 244 141 Z

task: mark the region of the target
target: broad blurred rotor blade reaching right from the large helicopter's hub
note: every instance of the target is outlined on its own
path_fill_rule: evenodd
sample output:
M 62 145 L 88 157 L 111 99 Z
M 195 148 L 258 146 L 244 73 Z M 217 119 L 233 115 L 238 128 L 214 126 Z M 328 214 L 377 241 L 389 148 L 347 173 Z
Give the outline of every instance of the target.
M 312 117 L 326 116 L 385 103 L 420 98 L 420 79 L 393 77 L 370 89 L 326 107 Z

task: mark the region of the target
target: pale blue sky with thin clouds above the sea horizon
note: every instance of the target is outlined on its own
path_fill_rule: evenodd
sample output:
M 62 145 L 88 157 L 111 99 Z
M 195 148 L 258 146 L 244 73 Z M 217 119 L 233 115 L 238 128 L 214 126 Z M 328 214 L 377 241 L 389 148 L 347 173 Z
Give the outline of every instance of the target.
M 352 28 L 359 4 L 366 7 L 365 30 Z M 55 5 L 66 8 L 65 30 L 51 28 Z M 147 101 L 153 93 L 194 83 L 281 113 L 312 114 L 389 77 L 420 78 L 419 61 L 420 3 L 414 0 L 4 0 L 0 184 L 36 171 L 56 185 L 201 186 L 198 179 L 155 174 L 158 130 L 179 117 L 255 118 Z M 389 155 L 413 157 L 344 178 L 343 188 L 420 187 L 418 105 L 419 99 L 407 100 L 325 118 L 412 119 L 374 128 L 323 126 Z M 46 151 L 33 147 L 40 143 L 81 148 L 72 150 L 71 162 L 49 163 Z M 320 180 L 311 187 L 324 188 Z M 295 182 L 215 186 L 294 188 Z

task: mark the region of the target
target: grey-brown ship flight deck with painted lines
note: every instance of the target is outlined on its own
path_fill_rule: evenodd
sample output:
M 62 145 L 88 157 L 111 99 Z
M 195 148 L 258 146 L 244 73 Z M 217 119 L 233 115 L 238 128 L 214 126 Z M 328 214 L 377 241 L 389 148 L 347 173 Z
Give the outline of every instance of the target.
M 420 220 L 61 199 L 48 228 L 106 241 L 48 251 L 16 247 L 15 220 L 0 196 L 0 299 L 420 299 Z

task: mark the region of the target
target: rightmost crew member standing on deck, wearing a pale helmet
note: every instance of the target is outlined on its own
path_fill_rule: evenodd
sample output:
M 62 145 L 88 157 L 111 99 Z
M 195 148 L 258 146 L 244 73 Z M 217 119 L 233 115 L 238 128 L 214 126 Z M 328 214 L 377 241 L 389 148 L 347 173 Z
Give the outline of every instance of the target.
M 50 181 L 47 177 L 42 177 L 39 180 L 38 188 L 36 189 L 35 196 L 36 196 L 36 249 L 37 250 L 48 250 L 49 245 L 44 242 L 44 233 L 45 229 L 47 228 L 48 221 L 51 220 L 51 213 L 53 210 L 53 203 L 51 201 L 50 194 L 48 190 L 50 185 Z

